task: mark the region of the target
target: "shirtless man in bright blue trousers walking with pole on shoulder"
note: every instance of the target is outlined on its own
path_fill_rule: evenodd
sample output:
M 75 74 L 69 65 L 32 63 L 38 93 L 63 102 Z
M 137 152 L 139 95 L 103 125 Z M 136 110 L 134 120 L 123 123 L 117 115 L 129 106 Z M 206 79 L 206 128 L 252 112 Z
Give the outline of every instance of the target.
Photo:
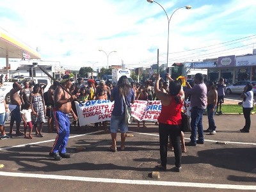
M 63 79 L 60 83 L 67 88 L 70 89 L 72 85 L 72 77 L 69 75 L 63 76 Z M 67 154 L 66 146 L 68 143 L 68 136 L 70 132 L 70 121 L 68 113 L 72 113 L 74 120 L 77 120 L 77 116 L 71 108 L 71 101 L 77 99 L 75 95 L 72 97 L 61 88 L 61 86 L 57 86 L 54 91 L 54 116 L 56 117 L 56 128 L 57 128 L 57 136 L 54 141 L 53 147 L 49 156 L 53 157 L 57 161 L 63 158 L 70 158 L 70 155 Z

